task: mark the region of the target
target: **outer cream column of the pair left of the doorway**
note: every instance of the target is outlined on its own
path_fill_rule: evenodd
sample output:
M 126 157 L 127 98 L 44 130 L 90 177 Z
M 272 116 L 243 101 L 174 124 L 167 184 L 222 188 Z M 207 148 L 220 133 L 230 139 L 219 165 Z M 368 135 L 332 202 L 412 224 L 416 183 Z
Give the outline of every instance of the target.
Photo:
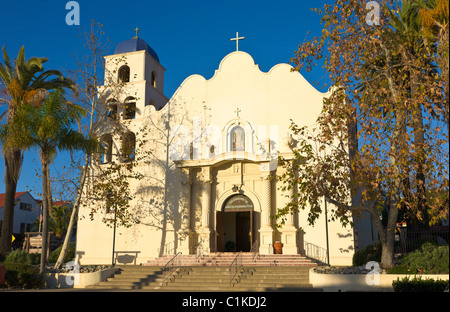
M 178 230 L 177 252 L 190 254 L 193 245 L 194 233 L 191 229 L 191 187 L 192 179 L 189 169 L 181 169 L 183 174 L 181 181 L 181 195 L 179 200 L 179 213 L 181 217 L 181 228 Z

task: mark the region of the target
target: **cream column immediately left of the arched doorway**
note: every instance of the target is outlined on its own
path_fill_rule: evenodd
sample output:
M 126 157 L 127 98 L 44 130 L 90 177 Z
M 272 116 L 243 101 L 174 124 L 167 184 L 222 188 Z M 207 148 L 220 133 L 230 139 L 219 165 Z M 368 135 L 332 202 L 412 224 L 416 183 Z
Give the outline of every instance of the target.
M 209 167 L 202 168 L 200 174 L 202 183 L 202 216 L 201 227 L 198 230 L 200 239 L 203 241 L 202 248 L 205 253 L 211 251 L 211 172 Z

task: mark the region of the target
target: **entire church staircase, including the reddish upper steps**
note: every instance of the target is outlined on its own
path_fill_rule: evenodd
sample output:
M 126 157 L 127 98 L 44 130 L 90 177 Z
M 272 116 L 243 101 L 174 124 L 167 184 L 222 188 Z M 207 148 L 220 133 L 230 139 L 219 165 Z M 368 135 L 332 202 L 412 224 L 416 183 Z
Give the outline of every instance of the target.
M 225 292 L 225 291 L 320 291 L 309 284 L 309 269 L 316 264 L 301 256 L 242 254 L 236 275 L 229 266 L 237 254 L 215 253 L 179 256 L 167 278 L 163 256 L 142 266 L 120 266 L 114 276 L 91 289 Z M 231 282 L 230 282 L 231 280 Z

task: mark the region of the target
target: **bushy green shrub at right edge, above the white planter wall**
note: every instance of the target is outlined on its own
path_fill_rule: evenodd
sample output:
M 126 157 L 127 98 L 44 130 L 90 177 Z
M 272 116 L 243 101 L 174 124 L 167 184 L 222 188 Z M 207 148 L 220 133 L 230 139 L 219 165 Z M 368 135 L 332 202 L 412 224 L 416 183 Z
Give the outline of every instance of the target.
M 401 259 L 401 265 L 409 273 L 448 274 L 448 246 L 435 246 L 426 242 L 420 249 L 406 254 Z

